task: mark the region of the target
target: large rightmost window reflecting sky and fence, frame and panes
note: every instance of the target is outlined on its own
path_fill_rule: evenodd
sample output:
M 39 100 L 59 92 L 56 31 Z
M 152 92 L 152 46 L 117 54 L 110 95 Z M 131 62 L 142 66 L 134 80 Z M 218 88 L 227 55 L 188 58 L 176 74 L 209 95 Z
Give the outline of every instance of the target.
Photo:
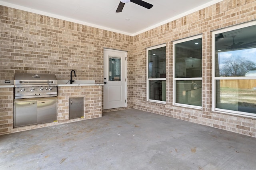
M 213 106 L 216 111 L 256 113 L 256 22 L 214 31 Z

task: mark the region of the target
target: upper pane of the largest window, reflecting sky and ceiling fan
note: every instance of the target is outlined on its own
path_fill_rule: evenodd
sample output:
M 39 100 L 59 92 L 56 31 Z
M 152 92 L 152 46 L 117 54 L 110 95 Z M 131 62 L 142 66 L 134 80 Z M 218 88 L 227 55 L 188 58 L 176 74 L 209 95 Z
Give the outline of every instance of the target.
M 256 76 L 256 26 L 215 34 L 215 77 Z

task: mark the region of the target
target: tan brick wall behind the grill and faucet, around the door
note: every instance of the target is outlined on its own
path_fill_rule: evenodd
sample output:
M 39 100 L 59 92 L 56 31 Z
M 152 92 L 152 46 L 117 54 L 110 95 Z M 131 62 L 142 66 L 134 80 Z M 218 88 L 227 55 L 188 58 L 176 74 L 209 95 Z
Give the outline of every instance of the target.
M 15 72 L 55 74 L 57 80 L 103 83 L 104 48 L 127 51 L 128 108 L 132 107 L 133 37 L 0 6 L 0 80 Z M 102 93 L 103 94 L 103 93 Z

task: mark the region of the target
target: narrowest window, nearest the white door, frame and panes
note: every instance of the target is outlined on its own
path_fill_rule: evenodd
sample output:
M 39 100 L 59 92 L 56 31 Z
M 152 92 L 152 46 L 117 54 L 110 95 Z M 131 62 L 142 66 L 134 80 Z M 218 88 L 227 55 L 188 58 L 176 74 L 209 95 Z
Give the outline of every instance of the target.
M 166 44 L 147 49 L 147 100 L 166 104 Z

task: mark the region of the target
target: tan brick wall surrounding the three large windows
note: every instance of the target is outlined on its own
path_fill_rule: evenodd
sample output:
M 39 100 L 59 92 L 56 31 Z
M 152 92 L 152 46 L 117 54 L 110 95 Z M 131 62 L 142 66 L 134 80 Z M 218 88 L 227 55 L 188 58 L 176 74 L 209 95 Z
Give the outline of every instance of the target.
M 134 36 L 134 108 L 256 137 L 256 119 L 212 112 L 211 31 L 256 19 L 255 0 L 224 0 Z M 202 109 L 172 105 L 172 41 L 202 34 Z M 166 43 L 166 105 L 146 102 L 146 48 Z M 143 69 L 142 69 L 143 68 Z

